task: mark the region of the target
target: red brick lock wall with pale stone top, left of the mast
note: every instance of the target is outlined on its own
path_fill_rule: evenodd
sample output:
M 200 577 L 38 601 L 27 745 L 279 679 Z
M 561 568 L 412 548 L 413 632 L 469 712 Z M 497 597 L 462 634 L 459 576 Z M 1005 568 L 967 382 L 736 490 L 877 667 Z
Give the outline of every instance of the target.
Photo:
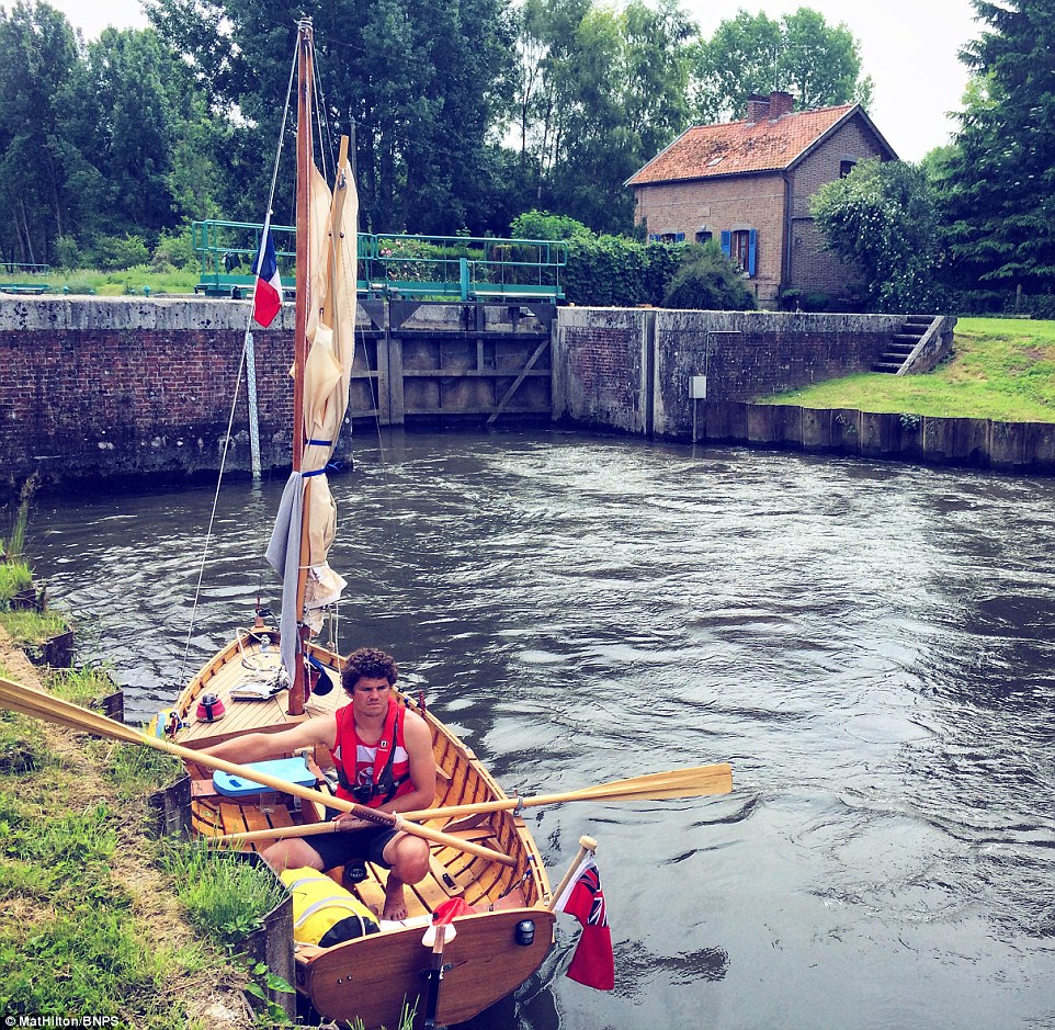
M 95 478 L 218 467 L 247 305 L 44 301 L 0 305 L 0 448 L 8 477 Z M 292 324 L 292 312 L 283 313 Z M 277 322 L 275 324 L 277 325 Z M 292 326 L 253 333 L 262 460 L 288 464 Z M 245 378 L 230 467 L 249 468 Z

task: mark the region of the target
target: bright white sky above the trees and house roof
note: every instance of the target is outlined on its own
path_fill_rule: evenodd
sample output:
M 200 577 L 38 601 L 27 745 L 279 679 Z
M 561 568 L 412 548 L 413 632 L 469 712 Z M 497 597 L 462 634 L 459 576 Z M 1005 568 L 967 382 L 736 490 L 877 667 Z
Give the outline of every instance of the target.
M 139 0 L 48 0 L 95 38 L 106 25 L 143 27 Z M 7 4 L 5 4 L 7 5 Z M 863 71 L 875 81 L 869 114 L 898 156 L 918 161 L 948 143 L 948 113 L 961 106 L 967 69 L 956 54 L 980 29 L 971 0 L 681 0 L 710 36 L 739 9 L 770 18 L 809 7 L 829 25 L 846 24 L 861 44 Z

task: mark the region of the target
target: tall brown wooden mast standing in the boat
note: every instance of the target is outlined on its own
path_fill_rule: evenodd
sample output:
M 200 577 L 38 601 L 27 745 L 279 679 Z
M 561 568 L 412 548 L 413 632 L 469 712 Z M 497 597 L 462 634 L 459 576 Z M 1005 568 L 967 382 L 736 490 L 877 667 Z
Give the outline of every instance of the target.
M 293 471 L 300 472 L 304 460 L 304 367 L 308 353 L 308 313 L 314 303 L 311 296 L 311 240 L 310 225 L 311 172 L 315 155 L 311 145 L 311 90 L 315 84 L 314 30 L 311 19 L 302 19 L 297 26 L 297 267 L 296 267 L 296 322 L 294 328 L 294 380 L 293 380 Z M 307 585 L 308 563 L 308 506 L 311 500 L 311 480 L 304 485 L 304 507 L 300 514 L 300 561 L 297 570 L 297 648 L 293 682 L 290 686 L 290 715 L 303 715 L 304 645 L 308 633 L 304 625 L 304 591 Z

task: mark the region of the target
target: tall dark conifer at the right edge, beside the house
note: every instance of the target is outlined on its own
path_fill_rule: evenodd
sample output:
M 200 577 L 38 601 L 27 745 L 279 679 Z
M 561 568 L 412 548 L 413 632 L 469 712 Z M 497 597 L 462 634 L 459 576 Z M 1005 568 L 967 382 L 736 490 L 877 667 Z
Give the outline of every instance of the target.
M 946 278 L 961 288 L 1052 290 L 1055 276 L 1055 22 L 1050 2 L 973 0 L 990 27 L 973 69 L 956 150 L 940 184 Z

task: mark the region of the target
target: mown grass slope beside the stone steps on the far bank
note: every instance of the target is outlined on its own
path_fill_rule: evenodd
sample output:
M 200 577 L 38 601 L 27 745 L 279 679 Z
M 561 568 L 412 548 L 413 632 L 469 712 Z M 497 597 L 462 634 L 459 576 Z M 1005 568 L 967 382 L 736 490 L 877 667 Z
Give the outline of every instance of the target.
M 851 375 L 758 403 L 1055 422 L 1055 321 L 961 318 L 952 358 L 926 375 Z

